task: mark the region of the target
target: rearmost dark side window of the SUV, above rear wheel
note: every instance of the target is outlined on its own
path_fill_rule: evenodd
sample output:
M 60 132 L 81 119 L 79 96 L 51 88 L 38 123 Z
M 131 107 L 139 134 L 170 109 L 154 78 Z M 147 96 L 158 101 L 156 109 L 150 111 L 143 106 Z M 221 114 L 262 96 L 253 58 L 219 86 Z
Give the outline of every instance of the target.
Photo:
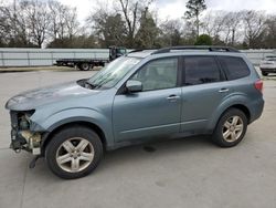
M 250 75 L 250 69 L 242 58 L 220 56 L 219 59 L 229 80 Z

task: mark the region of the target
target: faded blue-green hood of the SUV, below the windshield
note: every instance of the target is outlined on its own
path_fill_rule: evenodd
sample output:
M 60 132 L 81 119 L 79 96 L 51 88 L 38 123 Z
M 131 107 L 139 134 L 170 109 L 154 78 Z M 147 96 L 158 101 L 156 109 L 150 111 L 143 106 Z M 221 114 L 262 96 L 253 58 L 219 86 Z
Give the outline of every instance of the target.
M 6 108 L 12 111 L 35 110 L 41 105 L 98 92 L 82 87 L 77 82 L 70 82 L 20 93 L 7 102 Z

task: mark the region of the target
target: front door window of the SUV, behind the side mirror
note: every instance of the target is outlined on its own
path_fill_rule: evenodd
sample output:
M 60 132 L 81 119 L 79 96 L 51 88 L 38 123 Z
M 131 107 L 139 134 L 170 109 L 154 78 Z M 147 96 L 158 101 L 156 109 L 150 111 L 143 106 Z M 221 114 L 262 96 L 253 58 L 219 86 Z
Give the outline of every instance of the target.
M 151 61 L 140 69 L 131 80 L 142 83 L 142 91 L 177 86 L 178 58 Z

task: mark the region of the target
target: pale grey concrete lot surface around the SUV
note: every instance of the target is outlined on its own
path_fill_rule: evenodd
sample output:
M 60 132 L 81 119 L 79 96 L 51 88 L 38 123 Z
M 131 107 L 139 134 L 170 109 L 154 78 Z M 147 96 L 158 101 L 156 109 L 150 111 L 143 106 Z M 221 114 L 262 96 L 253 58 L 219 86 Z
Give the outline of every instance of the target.
M 265 110 L 234 148 L 219 148 L 205 137 L 107 153 L 99 167 L 77 180 L 63 180 L 44 159 L 34 169 L 30 154 L 9 149 L 6 101 L 20 91 L 77 80 L 94 72 L 0 74 L 0 208 L 275 208 L 276 77 L 265 80 Z

